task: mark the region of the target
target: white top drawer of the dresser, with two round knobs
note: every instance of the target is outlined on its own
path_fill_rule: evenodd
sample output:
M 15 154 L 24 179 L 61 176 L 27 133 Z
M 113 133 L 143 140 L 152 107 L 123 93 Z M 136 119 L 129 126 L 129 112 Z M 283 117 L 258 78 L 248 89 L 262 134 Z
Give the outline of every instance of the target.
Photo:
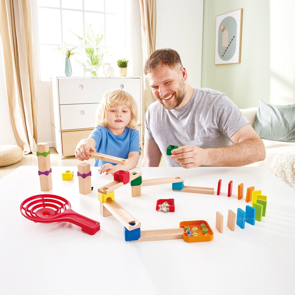
M 140 78 L 59 78 L 59 104 L 99 103 L 111 89 L 123 89 L 140 102 L 140 87 Z

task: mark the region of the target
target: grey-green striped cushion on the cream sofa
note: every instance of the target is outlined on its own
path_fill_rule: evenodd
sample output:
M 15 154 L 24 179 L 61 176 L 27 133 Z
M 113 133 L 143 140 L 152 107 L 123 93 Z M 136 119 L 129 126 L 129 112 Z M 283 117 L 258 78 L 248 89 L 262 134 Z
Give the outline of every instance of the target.
M 260 99 L 253 128 L 261 138 L 295 142 L 295 104 L 275 106 Z

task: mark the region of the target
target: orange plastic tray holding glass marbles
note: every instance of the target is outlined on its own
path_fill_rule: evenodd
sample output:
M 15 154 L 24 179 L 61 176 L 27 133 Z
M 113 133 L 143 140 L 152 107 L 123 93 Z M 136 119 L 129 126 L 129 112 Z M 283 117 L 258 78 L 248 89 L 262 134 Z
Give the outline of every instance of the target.
M 204 223 L 206 227 L 208 228 L 207 235 L 204 234 L 201 224 Z M 189 237 L 186 233 L 185 227 L 189 226 L 190 229 L 192 229 L 194 226 L 198 228 L 198 231 L 196 232 L 198 235 L 195 237 Z M 179 227 L 183 227 L 184 233 L 183 233 L 183 240 L 186 242 L 205 242 L 205 241 L 211 241 L 213 239 L 213 230 L 211 229 L 210 225 L 205 220 L 194 220 L 194 221 L 182 221 L 179 223 Z

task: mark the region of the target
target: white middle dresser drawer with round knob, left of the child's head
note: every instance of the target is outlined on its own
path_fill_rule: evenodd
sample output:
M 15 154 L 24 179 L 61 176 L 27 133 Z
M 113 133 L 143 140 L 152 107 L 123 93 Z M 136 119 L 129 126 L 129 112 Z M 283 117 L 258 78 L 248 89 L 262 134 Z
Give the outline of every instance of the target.
M 95 111 L 99 104 L 60 105 L 60 130 L 95 127 Z

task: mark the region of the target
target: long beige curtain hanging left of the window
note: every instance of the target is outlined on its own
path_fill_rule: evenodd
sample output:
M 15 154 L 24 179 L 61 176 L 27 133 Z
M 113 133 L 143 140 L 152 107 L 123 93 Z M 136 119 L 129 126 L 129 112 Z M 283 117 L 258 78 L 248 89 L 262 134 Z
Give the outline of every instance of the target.
M 30 0 L 1 0 L 0 34 L 9 116 L 24 154 L 37 151 L 37 76 Z

